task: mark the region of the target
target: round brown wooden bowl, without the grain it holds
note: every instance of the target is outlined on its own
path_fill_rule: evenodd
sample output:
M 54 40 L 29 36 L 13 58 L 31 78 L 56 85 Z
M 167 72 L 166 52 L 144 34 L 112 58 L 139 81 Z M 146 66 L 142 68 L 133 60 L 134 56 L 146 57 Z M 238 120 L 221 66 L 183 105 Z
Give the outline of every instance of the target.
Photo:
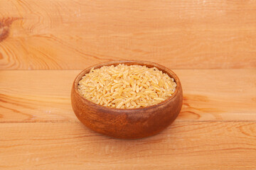
M 131 109 L 100 106 L 82 97 L 78 92 L 78 82 L 80 79 L 82 79 L 86 73 L 90 72 L 92 67 L 97 69 L 112 64 L 138 64 L 146 65 L 146 67 L 156 67 L 162 72 L 169 74 L 169 77 L 174 78 L 177 84 L 176 91 L 165 101 L 154 106 Z M 78 74 L 71 91 L 71 103 L 75 115 L 91 130 L 122 139 L 148 137 L 164 130 L 164 128 L 176 119 L 178 113 L 181 111 L 183 99 L 181 82 L 174 72 L 164 66 L 143 61 L 113 61 L 97 64 L 92 67 Z

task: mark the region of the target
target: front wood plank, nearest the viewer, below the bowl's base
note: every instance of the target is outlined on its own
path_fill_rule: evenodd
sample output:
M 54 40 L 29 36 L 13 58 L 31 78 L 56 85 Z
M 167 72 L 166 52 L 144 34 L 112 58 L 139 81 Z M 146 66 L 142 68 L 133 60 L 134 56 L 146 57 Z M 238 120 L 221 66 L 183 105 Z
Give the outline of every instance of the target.
M 175 122 L 142 140 L 115 140 L 80 123 L 0 128 L 1 169 L 256 169 L 255 121 Z

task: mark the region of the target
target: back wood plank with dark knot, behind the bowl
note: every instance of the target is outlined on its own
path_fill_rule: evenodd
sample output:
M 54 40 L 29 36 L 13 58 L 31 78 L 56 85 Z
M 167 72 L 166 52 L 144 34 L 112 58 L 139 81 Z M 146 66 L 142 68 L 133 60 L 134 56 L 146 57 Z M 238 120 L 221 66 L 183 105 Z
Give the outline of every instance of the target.
M 256 1 L 0 0 L 0 69 L 256 68 Z

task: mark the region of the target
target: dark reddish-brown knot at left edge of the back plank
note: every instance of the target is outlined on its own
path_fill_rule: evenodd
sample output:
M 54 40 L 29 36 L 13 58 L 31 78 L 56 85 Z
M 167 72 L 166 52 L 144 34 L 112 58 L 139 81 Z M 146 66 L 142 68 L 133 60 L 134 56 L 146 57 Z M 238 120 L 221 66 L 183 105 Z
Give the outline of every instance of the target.
M 18 19 L 21 18 L 8 17 L 0 19 L 0 42 L 8 37 L 11 23 Z

